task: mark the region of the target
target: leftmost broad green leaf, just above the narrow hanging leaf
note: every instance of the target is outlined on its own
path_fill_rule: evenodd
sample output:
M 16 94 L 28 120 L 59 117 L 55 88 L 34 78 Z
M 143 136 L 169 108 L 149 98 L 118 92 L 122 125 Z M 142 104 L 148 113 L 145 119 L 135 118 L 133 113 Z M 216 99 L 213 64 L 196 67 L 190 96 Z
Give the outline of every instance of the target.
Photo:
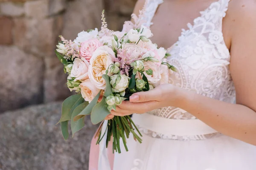
M 75 94 L 65 99 L 62 103 L 61 119 L 59 122 L 70 120 L 74 109 L 83 102 L 84 99 L 81 94 Z

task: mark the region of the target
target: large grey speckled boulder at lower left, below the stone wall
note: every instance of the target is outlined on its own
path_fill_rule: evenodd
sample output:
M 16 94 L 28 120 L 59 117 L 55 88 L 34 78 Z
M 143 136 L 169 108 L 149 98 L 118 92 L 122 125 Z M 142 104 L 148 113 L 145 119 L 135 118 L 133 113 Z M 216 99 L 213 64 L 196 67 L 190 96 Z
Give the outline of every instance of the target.
M 87 170 L 90 140 L 96 126 L 65 141 L 61 103 L 32 106 L 0 115 L 0 170 Z

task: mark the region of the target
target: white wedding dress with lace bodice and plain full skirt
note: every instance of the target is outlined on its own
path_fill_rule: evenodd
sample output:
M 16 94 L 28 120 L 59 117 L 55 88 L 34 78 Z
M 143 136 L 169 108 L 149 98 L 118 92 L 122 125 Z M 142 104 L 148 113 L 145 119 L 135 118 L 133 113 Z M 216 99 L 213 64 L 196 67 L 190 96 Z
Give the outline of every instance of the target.
M 229 1 L 212 3 L 182 30 L 169 48 L 168 62 L 177 68 L 169 72 L 169 83 L 234 103 L 230 53 L 222 34 Z M 152 24 L 160 3 L 163 0 L 147 1 L 145 26 Z M 128 139 L 129 151 L 122 148 L 115 154 L 114 170 L 256 170 L 256 146 L 224 136 L 180 108 L 134 114 L 133 119 L 143 132 L 143 143 Z

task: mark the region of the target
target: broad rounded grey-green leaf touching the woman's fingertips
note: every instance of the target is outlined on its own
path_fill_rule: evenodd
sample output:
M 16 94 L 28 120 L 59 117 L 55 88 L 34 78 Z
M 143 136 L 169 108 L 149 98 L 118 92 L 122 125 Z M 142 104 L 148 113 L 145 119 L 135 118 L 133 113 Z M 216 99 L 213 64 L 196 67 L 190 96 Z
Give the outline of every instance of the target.
M 106 116 L 110 114 L 108 108 L 106 107 L 106 97 L 104 96 L 102 101 L 99 102 L 97 105 L 94 106 L 93 111 L 91 113 L 91 122 L 93 125 L 102 122 Z

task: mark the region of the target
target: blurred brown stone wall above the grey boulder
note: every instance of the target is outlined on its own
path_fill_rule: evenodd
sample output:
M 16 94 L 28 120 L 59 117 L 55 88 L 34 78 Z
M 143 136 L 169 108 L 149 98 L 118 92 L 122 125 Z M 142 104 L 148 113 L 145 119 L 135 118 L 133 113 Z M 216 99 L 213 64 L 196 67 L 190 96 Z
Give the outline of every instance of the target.
M 55 57 L 58 35 L 101 26 L 121 30 L 136 0 L 0 0 L 0 113 L 70 95 Z

